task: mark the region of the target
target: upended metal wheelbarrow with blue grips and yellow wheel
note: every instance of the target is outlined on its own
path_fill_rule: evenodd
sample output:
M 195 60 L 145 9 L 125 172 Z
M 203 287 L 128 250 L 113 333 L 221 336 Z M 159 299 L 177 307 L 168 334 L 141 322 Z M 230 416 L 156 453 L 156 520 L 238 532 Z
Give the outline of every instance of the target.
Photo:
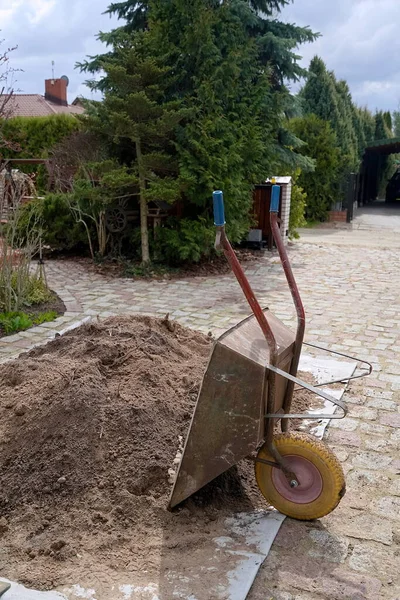
M 223 194 L 214 192 L 216 247 L 222 247 L 252 315 L 229 329 L 214 344 L 177 471 L 170 508 L 246 457 L 254 461 L 256 481 L 267 502 L 287 516 L 301 520 L 323 517 L 339 504 L 345 493 L 343 469 L 335 454 L 316 437 L 289 430 L 290 419 L 326 419 L 326 414 L 290 412 L 295 385 L 338 406 L 340 412 L 330 418 L 344 418 L 347 407 L 319 389 L 326 384 L 314 386 L 297 377 L 304 344 L 305 312 L 281 237 L 277 217 L 279 200 L 280 187 L 274 185 L 271 229 L 296 307 L 296 333 L 258 303 L 225 233 Z M 353 360 L 365 363 L 364 370 L 368 373 L 363 371 L 346 381 L 371 373 L 369 363 Z M 277 420 L 280 433 L 275 433 Z

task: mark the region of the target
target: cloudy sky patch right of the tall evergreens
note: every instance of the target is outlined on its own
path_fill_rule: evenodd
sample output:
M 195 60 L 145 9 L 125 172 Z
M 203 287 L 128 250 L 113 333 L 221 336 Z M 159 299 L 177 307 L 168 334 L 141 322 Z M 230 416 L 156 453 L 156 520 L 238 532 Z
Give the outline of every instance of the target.
M 309 25 L 322 37 L 301 46 L 302 64 L 318 54 L 345 79 L 354 100 L 371 110 L 393 110 L 400 101 L 399 0 L 295 0 L 286 21 Z

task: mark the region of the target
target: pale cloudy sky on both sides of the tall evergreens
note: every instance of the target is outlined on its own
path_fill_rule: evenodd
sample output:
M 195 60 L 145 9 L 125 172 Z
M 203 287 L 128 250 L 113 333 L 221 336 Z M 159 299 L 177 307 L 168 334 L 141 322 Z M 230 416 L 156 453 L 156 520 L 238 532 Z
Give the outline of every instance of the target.
M 74 69 L 86 55 L 102 51 L 100 31 L 117 23 L 102 14 L 109 0 L 0 0 L 0 38 L 18 49 L 11 55 L 21 93 L 44 93 L 44 80 L 67 75 L 69 101 L 90 97 L 85 74 Z M 394 110 L 400 103 L 400 0 L 295 0 L 283 20 L 309 25 L 322 35 L 302 45 L 302 64 L 318 54 L 337 78 L 345 79 L 354 100 L 371 110 Z M 294 88 L 296 89 L 296 88 Z

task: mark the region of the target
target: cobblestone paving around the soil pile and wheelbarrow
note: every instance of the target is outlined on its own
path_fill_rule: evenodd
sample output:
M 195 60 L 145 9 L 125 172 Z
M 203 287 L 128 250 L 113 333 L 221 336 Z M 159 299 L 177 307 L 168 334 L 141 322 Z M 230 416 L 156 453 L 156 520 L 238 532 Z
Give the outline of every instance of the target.
M 321 521 L 286 519 L 249 600 L 400 599 L 399 250 L 364 247 L 357 237 L 354 246 L 341 246 L 340 237 L 336 245 L 334 235 L 329 244 L 296 243 L 290 254 L 308 340 L 354 353 L 375 369 L 352 383 L 349 416 L 328 432 L 347 474 L 347 494 Z M 294 325 L 276 255 L 260 258 L 247 274 L 261 302 Z M 67 312 L 54 323 L 0 340 L 0 360 L 88 315 L 169 312 L 183 324 L 218 334 L 248 314 L 231 276 L 108 281 L 72 262 L 48 263 L 47 276 Z

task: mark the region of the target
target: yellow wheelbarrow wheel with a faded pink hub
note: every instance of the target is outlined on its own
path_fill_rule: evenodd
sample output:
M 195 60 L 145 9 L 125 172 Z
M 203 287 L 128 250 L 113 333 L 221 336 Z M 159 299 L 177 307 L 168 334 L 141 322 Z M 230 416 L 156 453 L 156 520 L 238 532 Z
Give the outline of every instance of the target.
M 335 454 L 320 440 L 305 433 L 283 433 L 274 443 L 298 478 L 291 487 L 281 469 L 255 463 L 257 485 L 266 500 L 293 519 L 311 521 L 330 513 L 346 491 L 343 469 Z M 264 444 L 257 458 L 273 460 Z

